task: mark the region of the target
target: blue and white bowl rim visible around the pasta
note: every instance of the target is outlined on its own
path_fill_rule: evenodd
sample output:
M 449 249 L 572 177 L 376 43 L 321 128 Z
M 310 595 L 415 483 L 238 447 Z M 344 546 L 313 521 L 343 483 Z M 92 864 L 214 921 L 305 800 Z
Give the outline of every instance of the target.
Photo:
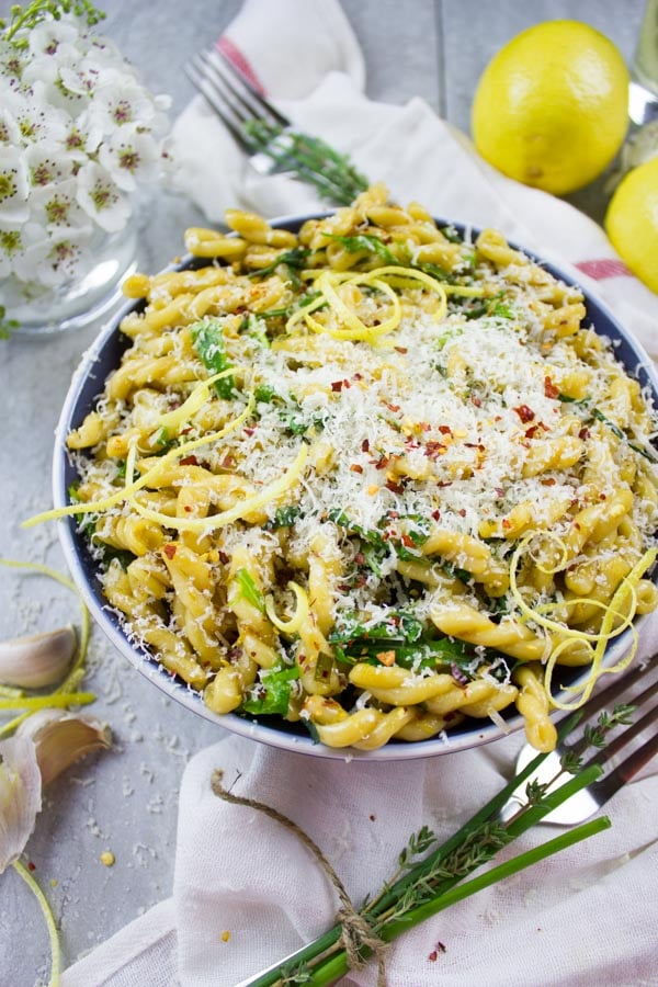
M 307 219 L 324 218 L 329 215 L 331 215 L 330 212 L 282 216 L 271 220 L 271 225 L 296 231 Z M 436 219 L 436 223 L 440 227 L 454 228 L 463 237 L 475 237 L 479 232 L 479 229 L 470 224 L 457 223 L 451 219 Z M 594 298 L 577 279 L 567 274 L 552 261 L 542 259 L 525 247 L 520 247 L 515 243 L 511 246 L 522 250 L 523 253 L 540 263 L 560 281 L 580 288 L 587 307 L 586 325 L 591 325 L 598 334 L 609 337 L 612 340 L 615 355 L 623 363 L 626 372 L 639 382 L 644 390 L 650 393 L 651 400 L 655 405 L 658 405 L 658 374 L 653 361 L 642 344 L 629 331 L 621 326 L 606 306 L 598 298 Z M 188 254 L 179 263 L 171 264 L 166 270 L 177 271 L 188 266 L 204 266 L 207 263 L 207 261 L 201 261 Z M 121 337 L 118 326 L 128 313 L 138 309 L 140 305 L 143 305 L 140 300 L 127 302 L 114 315 L 83 354 L 79 366 L 73 373 L 55 431 L 53 499 L 56 508 L 65 507 L 68 503 L 69 486 L 77 479 L 76 469 L 66 451 L 66 436 L 71 429 L 77 428 L 81 423 L 88 411 L 92 409 L 103 388 L 106 376 L 117 365 L 121 353 L 129 344 L 129 340 Z M 315 742 L 307 734 L 288 730 L 287 724 L 283 721 L 279 725 L 272 725 L 262 721 L 256 722 L 235 713 L 219 716 L 205 705 L 200 693 L 190 689 L 182 680 L 172 677 L 158 663 L 156 658 L 129 640 L 121 626 L 118 617 L 107 608 L 102 595 L 97 578 L 98 565 L 91 558 L 84 538 L 77 532 L 75 519 L 63 518 L 57 522 L 57 525 L 71 578 L 78 587 L 91 615 L 120 654 L 127 658 L 134 668 L 154 682 L 166 695 L 232 734 L 249 737 L 282 750 L 334 760 L 399 761 L 434 757 L 456 750 L 479 747 L 483 744 L 500 739 L 508 733 L 519 730 L 523 726 L 523 719 L 518 714 L 508 715 L 504 727 L 495 723 L 470 721 L 467 726 L 463 726 L 461 729 L 457 728 L 446 736 L 439 736 L 412 744 L 389 741 L 378 750 L 360 751 L 352 748 L 347 750 L 327 748 L 321 744 Z M 645 617 L 639 617 L 636 621 L 636 628 L 644 623 L 644 620 Z M 627 649 L 631 639 L 629 635 L 631 632 L 626 631 L 610 645 L 605 655 L 606 665 L 619 660 Z

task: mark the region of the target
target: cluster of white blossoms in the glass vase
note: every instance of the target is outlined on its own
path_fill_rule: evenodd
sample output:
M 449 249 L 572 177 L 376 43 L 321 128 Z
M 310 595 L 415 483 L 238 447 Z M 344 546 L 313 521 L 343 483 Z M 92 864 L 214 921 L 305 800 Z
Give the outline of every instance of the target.
M 75 14 L 25 37 L 25 52 L 0 39 L 0 277 L 32 291 L 82 276 L 129 193 L 161 178 L 170 100 Z

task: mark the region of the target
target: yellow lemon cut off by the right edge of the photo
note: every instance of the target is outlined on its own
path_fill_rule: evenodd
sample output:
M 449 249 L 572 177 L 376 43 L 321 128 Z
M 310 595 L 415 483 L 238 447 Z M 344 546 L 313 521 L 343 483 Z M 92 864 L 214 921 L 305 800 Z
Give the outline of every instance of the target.
M 624 263 L 658 294 L 658 158 L 622 179 L 605 213 L 605 231 Z

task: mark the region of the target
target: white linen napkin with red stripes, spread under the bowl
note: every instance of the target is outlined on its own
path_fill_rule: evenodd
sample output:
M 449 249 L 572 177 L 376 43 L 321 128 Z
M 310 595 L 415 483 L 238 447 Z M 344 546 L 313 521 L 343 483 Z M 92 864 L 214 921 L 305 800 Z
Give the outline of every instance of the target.
M 359 46 L 336 0 L 247 0 L 222 45 L 300 129 L 350 151 L 395 198 L 491 225 L 576 273 L 651 355 L 658 298 L 632 277 L 599 227 L 569 205 L 495 172 L 421 100 L 363 95 Z M 316 208 L 287 178 L 249 170 L 205 102 L 177 123 L 183 188 L 220 222 L 228 205 L 272 217 Z M 658 642 L 658 619 L 642 649 Z M 322 848 L 353 900 L 378 890 L 411 832 L 447 838 L 510 775 L 519 735 L 472 751 L 401 763 L 309 758 L 227 737 L 198 753 L 181 787 L 172 898 L 63 976 L 63 987 L 232 987 L 322 932 L 338 901 L 296 837 L 211 790 L 224 770 L 236 794 L 291 816 Z M 656 984 L 658 774 L 647 769 L 610 806 L 613 828 L 496 885 L 392 946 L 392 987 L 590 987 Z M 547 830 L 544 829 L 544 837 Z M 524 849 L 536 832 L 522 840 Z M 373 965 L 344 985 L 374 985 Z

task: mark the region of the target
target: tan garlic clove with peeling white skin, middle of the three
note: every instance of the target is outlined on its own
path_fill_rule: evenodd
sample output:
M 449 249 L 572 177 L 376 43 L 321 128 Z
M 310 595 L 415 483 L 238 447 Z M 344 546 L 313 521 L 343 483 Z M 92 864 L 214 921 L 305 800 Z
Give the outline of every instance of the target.
M 25 719 L 16 736 L 34 744 L 42 782 L 48 785 L 67 768 L 91 753 L 107 749 L 110 728 L 92 716 L 78 716 L 65 710 L 42 710 Z

